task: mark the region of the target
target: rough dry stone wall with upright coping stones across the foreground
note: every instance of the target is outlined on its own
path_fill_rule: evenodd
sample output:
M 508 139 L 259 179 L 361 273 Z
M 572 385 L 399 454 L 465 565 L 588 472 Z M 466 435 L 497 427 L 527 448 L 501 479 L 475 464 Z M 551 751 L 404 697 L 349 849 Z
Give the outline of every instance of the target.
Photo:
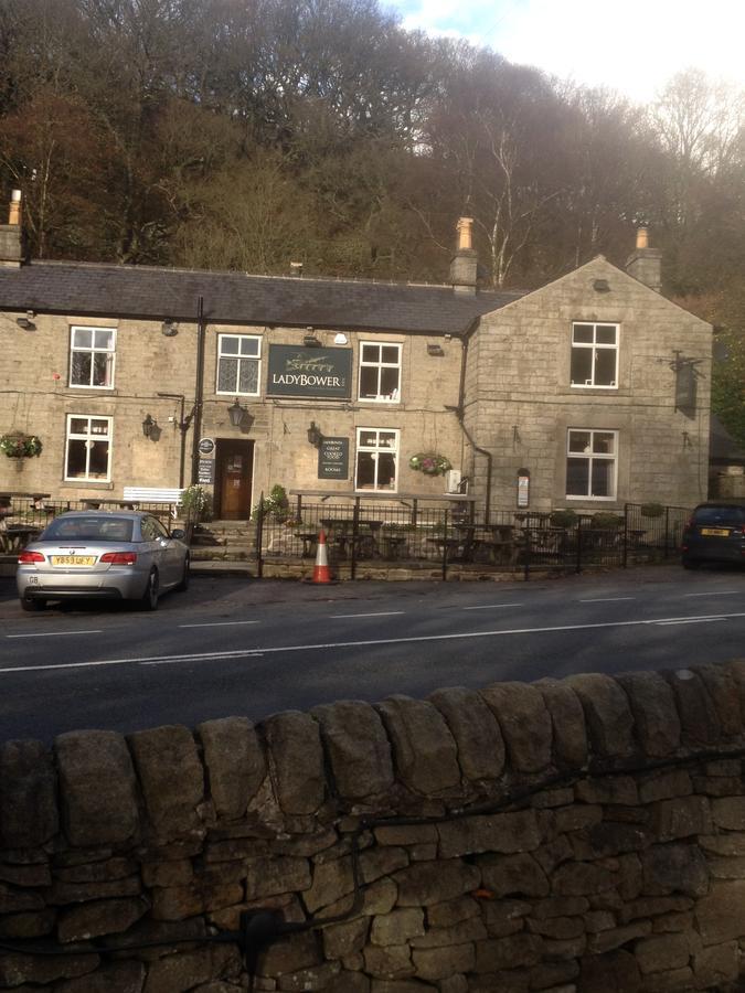
M 0 989 L 237 993 L 260 908 L 256 991 L 736 990 L 744 726 L 739 661 L 6 743 Z

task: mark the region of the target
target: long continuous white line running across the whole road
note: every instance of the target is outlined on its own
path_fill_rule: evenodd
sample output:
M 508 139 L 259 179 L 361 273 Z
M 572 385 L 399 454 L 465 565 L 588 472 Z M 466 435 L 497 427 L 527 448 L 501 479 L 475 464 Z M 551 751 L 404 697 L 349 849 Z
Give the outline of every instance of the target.
M 503 634 L 544 634 L 556 631 L 590 631 L 602 628 L 649 628 L 675 621 L 730 620 L 745 618 L 745 612 L 721 613 L 698 618 L 660 617 L 654 620 L 604 621 L 594 624 L 552 624 L 545 628 L 508 628 L 501 631 L 467 631 L 457 634 L 419 634 L 408 638 L 375 638 L 364 641 L 329 641 L 317 644 L 287 644 L 276 648 L 237 649 L 230 652 L 198 652 L 189 655 L 150 655 L 141 659 L 104 659 L 99 662 L 62 662 L 58 665 L 15 665 L 0 669 L 0 675 L 10 672 L 40 672 L 50 669 L 93 669 L 102 665 L 163 665 L 167 662 L 198 662 L 212 659 L 246 659 L 252 655 L 279 654 L 281 652 L 308 652 L 318 649 L 372 648 L 382 644 L 414 644 L 427 641 L 462 641 L 471 638 L 499 638 Z

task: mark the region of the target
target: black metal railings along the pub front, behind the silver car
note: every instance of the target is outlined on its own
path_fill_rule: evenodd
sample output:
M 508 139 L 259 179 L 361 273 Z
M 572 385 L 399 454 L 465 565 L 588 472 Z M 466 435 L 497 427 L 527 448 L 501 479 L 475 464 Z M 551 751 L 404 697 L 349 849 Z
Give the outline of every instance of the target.
M 0 552 L 14 553 L 57 514 L 71 510 L 121 508 L 115 500 L 50 500 L 0 495 Z M 168 526 L 175 509 L 139 503 Z M 308 503 L 298 499 L 279 512 L 266 512 L 262 499 L 247 538 L 260 575 L 267 560 L 315 559 L 323 531 L 329 563 L 339 575 L 355 578 L 368 566 L 437 569 L 441 577 L 461 572 L 512 572 L 529 578 L 545 570 L 582 572 L 670 558 L 690 511 L 659 504 L 626 504 L 624 513 L 575 514 L 504 510 L 488 520 L 462 504 L 419 498 L 397 503 L 356 498 L 353 503 Z M 193 523 L 180 512 L 190 533 Z

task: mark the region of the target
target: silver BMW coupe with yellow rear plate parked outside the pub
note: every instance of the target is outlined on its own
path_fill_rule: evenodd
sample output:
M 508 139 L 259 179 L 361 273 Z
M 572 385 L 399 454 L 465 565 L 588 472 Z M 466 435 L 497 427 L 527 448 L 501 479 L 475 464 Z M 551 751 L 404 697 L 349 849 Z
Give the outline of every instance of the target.
M 72 511 L 55 517 L 19 555 L 15 581 L 21 607 L 47 600 L 139 600 L 156 610 L 158 597 L 189 585 L 183 531 L 170 534 L 152 514 Z

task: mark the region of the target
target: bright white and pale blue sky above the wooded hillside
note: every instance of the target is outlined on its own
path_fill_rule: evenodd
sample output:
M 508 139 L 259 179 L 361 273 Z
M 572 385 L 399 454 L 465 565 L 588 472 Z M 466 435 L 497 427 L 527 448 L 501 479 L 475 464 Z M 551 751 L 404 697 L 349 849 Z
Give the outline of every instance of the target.
M 403 25 L 510 62 L 656 99 L 689 67 L 745 88 L 745 0 L 387 0 Z

